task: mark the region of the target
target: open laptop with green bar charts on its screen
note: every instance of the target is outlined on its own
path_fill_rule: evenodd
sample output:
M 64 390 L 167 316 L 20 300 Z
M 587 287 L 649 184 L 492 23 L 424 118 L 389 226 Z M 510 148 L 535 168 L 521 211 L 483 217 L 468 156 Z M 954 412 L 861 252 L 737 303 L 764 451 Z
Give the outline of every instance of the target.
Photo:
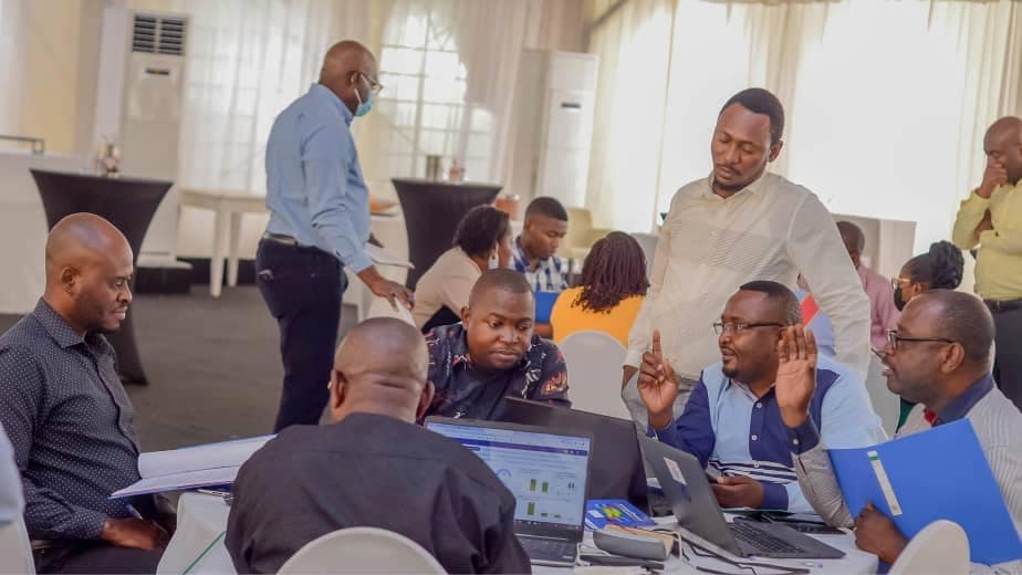
M 429 417 L 426 429 L 479 456 L 514 494 L 514 534 L 535 565 L 571 566 L 584 534 L 590 435 Z

